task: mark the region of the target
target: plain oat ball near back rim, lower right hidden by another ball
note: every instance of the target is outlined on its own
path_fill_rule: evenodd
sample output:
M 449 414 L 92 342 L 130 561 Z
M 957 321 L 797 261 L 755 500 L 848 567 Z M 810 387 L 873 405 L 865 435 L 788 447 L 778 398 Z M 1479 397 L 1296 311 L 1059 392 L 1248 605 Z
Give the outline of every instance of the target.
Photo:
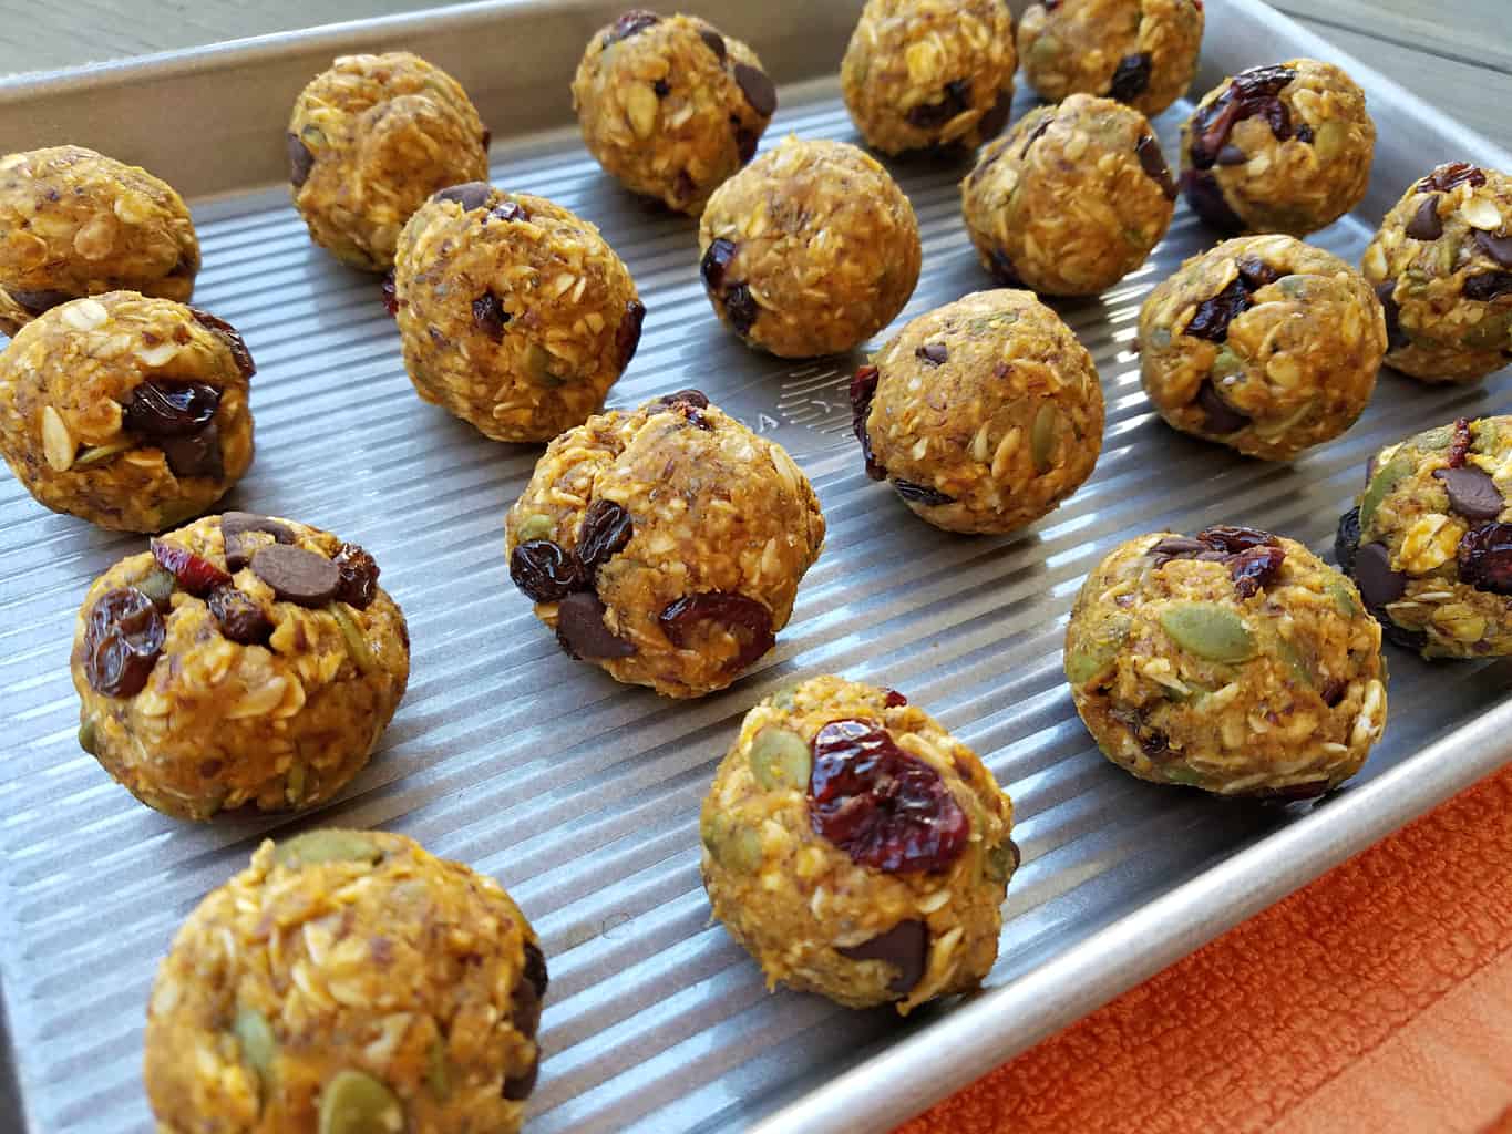
M 348 54 L 289 119 L 289 181 L 310 239 L 369 272 L 437 189 L 488 177 L 488 132 L 467 92 L 408 51 Z

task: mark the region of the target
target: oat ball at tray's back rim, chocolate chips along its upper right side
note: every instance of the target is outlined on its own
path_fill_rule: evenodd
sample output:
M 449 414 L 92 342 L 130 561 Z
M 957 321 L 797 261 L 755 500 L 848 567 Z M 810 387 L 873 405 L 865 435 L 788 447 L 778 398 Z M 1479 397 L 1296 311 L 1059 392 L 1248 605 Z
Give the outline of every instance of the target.
M 572 104 L 599 165 L 697 216 L 756 154 L 777 88 L 750 47 L 708 21 L 634 9 L 588 41 Z

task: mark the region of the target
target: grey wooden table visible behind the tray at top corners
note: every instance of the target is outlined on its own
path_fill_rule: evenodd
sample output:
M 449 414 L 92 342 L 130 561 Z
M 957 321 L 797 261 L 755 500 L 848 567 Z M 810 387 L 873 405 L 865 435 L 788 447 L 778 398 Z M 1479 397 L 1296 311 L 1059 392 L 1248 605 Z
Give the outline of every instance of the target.
M 821 0 L 836 3 L 838 0 Z M 0 0 L 0 73 L 360 20 L 442 0 Z M 1208 0 L 1220 5 L 1223 0 Z M 1455 118 L 1512 145 L 1509 0 L 1272 0 Z M 629 6 L 629 0 L 626 0 Z M 696 8 L 697 5 L 683 5 Z

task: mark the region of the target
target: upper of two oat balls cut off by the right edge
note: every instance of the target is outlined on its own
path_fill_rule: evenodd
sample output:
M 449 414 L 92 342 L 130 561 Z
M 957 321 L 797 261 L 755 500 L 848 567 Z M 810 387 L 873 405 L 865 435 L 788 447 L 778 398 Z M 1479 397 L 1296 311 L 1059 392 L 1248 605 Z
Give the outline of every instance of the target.
M 1441 165 L 1387 213 L 1361 262 L 1393 366 L 1474 383 L 1512 361 L 1512 177 Z

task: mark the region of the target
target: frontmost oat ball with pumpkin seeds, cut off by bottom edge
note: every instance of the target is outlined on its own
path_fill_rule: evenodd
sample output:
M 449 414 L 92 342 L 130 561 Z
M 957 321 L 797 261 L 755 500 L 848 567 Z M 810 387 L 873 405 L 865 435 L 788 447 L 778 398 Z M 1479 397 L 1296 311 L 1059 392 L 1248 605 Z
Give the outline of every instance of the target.
M 253 854 L 147 1009 L 159 1134 L 517 1134 L 546 957 L 503 888 L 401 835 Z

